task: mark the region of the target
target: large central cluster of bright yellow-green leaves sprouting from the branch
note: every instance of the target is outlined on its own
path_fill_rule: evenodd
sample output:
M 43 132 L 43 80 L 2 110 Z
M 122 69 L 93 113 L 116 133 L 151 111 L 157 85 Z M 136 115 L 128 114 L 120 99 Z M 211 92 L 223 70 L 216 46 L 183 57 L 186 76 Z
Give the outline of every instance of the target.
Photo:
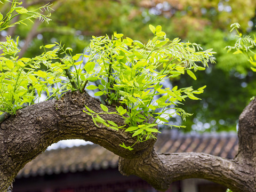
M 129 125 L 126 131 L 133 133 L 132 136 L 140 142 L 155 138 L 153 133 L 158 132 L 155 127 L 169 125 L 169 118 L 174 115 L 185 120 L 191 114 L 179 108 L 178 104 L 186 98 L 198 100 L 195 94 L 202 93 L 205 88 L 178 89 L 175 86 L 170 89 L 163 86 L 165 79 L 177 78 L 186 71 L 196 80 L 192 70 L 204 70 L 208 62 L 214 62 L 212 50 L 202 51 L 199 45 L 180 42 L 179 38 L 170 41 L 161 26 L 150 25 L 149 28 L 155 37 L 147 44 L 114 33 L 111 38 L 93 37 L 88 48 L 90 59 L 87 63 L 95 63 L 92 73 L 100 79 L 100 84 L 86 88 L 98 89 L 95 96 L 106 95 L 108 105 L 125 106 L 124 118 Z M 118 109 L 117 112 L 123 115 Z M 169 113 L 170 110 L 173 113 Z M 99 117 L 95 118 L 99 122 Z

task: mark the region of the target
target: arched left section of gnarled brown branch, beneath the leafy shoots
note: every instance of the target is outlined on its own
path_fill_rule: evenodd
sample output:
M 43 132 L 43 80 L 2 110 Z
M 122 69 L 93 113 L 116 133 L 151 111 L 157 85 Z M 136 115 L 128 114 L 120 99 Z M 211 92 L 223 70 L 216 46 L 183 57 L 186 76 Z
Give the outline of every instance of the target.
M 19 170 L 52 143 L 65 139 L 83 139 L 98 143 L 113 153 L 125 157 L 138 157 L 154 142 L 137 143 L 134 150 L 127 151 L 119 144 L 133 145 L 136 140 L 129 132 L 97 127 L 92 117 L 83 112 L 88 106 L 103 112 L 98 99 L 87 93 L 68 92 L 60 100 L 49 100 L 18 110 L 1 124 L 0 128 L 0 191 L 5 191 Z M 108 107 L 115 111 L 114 107 Z M 124 125 L 118 115 L 106 114 L 106 120 Z

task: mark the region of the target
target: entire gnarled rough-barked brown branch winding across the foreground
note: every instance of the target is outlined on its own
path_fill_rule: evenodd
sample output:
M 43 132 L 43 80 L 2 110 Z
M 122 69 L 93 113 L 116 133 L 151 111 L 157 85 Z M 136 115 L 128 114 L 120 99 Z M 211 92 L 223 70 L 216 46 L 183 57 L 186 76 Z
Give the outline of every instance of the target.
M 60 100 L 49 100 L 18 110 L 0 129 L 0 191 L 11 191 L 14 178 L 22 167 L 52 143 L 63 139 L 84 139 L 98 143 L 120 156 L 119 171 L 138 175 L 154 188 L 165 191 L 170 183 L 188 178 L 203 178 L 235 191 L 256 191 L 256 100 L 239 118 L 239 150 L 228 160 L 203 153 L 158 154 L 154 140 L 137 143 L 134 150 L 119 146 L 133 145 L 131 133 L 96 127 L 84 105 L 101 111 L 100 101 L 87 93 L 68 92 Z M 115 111 L 109 107 L 109 111 Z M 117 115 L 106 120 L 123 125 Z M 86 154 L 85 154 L 86 155 Z

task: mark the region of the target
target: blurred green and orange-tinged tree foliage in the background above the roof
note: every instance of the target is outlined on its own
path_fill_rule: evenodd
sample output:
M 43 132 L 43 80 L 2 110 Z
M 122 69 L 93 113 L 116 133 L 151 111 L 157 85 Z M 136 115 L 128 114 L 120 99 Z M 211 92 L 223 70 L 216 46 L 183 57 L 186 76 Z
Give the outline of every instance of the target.
M 196 73 L 197 81 L 189 76 L 171 81 L 170 86 L 193 85 L 195 89 L 207 85 L 200 95 L 202 100 L 186 101 L 186 111 L 194 115 L 186 122 L 178 117 L 173 122 L 186 125 L 182 131 L 236 130 L 239 114 L 256 94 L 256 78 L 246 58 L 227 54 L 224 47 L 235 42 L 229 33 L 233 22 L 239 22 L 244 32 L 255 34 L 254 0 L 27 0 L 23 6 L 33 9 L 49 2 L 54 9 L 49 25 L 34 21 L 33 25 L 1 31 L 2 41 L 6 35 L 15 38 L 19 34 L 23 57 L 40 54 L 39 46 L 53 42 L 65 43 L 74 53 L 81 53 L 92 35 L 117 31 L 146 43 L 152 37 L 148 25 L 161 25 L 170 39 L 180 37 L 217 52 L 217 64 Z M 1 4 L 1 13 L 8 6 Z

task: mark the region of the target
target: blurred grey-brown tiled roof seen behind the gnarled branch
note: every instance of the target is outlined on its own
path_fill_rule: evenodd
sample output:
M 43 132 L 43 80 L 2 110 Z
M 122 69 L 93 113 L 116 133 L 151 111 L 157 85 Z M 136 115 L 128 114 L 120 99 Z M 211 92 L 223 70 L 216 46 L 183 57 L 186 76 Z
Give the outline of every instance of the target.
M 163 131 L 155 145 L 159 153 L 198 152 L 234 158 L 238 150 L 236 133 L 183 134 Z M 116 168 L 118 156 L 99 145 L 45 151 L 25 165 L 18 178 Z

